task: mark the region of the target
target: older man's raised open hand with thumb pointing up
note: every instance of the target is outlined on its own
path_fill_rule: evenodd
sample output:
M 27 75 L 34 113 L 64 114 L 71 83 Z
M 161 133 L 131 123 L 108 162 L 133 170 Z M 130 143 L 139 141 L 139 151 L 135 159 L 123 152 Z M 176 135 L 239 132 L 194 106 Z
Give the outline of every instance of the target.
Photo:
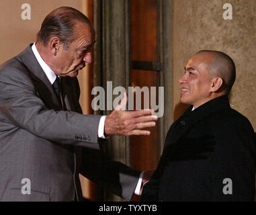
M 105 118 L 104 132 L 106 135 L 149 135 L 150 131 L 144 128 L 154 127 L 157 116 L 152 115 L 154 110 L 125 111 L 127 96 L 121 103 Z

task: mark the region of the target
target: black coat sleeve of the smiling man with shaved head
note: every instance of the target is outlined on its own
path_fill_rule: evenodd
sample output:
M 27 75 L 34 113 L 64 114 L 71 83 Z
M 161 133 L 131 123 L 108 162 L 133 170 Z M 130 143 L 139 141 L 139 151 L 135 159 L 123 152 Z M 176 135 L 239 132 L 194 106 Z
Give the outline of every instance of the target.
M 255 195 L 253 127 L 247 118 L 232 118 L 216 133 L 212 200 L 252 201 Z

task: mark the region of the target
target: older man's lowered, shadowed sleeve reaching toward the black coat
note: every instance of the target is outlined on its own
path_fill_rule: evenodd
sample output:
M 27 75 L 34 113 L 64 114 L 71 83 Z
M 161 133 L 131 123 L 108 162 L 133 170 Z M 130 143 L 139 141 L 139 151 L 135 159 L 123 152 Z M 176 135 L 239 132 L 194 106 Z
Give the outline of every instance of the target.
M 79 173 L 124 200 L 130 201 L 138 183 L 140 171 L 118 161 L 112 161 L 101 150 L 82 148 L 82 152 Z

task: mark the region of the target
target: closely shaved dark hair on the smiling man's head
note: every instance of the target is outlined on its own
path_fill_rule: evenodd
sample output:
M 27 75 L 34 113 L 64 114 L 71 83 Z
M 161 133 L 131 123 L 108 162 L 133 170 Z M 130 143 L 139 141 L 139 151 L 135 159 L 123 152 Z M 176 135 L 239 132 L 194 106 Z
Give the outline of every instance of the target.
M 236 68 L 230 56 L 216 50 L 200 50 L 196 54 L 207 54 L 212 60 L 206 62 L 206 69 L 212 77 L 220 77 L 223 89 L 228 94 L 236 79 Z

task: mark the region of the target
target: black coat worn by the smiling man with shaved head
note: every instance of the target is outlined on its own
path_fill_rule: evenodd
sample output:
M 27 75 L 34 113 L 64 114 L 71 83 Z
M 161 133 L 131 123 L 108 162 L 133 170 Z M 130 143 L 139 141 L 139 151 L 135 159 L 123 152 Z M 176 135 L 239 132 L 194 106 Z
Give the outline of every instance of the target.
M 226 95 L 191 108 L 171 125 L 142 201 L 253 201 L 256 149 L 249 120 L 230 108 Z

